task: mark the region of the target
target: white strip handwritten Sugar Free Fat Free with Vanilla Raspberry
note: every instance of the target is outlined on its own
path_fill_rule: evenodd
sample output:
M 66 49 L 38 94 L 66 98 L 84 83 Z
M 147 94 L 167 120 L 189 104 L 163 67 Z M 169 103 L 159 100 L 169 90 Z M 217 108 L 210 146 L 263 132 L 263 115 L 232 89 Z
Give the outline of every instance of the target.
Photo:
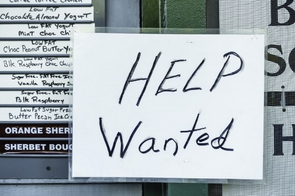
M 0 88 L 68 88 L 69 74 L 2 74 Z

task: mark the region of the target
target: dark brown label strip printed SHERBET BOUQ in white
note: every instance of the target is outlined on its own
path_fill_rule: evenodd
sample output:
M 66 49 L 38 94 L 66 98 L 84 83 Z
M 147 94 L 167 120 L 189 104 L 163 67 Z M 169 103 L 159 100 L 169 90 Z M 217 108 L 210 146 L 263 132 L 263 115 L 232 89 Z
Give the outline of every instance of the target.
M 2 140 L 0 154 L 67 154 L 72 145 L 65 141 L 44 140 Z

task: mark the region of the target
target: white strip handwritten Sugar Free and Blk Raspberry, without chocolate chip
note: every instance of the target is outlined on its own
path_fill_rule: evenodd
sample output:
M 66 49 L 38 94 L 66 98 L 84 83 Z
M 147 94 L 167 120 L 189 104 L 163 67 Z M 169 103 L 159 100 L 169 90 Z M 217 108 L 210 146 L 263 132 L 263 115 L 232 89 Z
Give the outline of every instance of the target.
M 1 104 L 69 104 L 69 90 L 0 91 Z

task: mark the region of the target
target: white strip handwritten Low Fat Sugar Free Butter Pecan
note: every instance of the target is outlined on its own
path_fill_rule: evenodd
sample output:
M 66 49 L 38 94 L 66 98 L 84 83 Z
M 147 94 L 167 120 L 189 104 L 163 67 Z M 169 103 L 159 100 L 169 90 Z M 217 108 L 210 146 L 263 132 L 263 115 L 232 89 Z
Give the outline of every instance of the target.
M 68 107 L 2 107 L 1 121 L 70 121 Z

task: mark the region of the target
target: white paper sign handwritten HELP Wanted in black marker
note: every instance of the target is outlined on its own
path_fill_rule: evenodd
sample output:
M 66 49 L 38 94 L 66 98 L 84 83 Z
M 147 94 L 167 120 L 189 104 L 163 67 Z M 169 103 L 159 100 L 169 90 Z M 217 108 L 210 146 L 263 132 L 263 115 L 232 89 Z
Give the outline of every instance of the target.
M 72 176 L 262 179 L 252 37 L 76 33 Z

